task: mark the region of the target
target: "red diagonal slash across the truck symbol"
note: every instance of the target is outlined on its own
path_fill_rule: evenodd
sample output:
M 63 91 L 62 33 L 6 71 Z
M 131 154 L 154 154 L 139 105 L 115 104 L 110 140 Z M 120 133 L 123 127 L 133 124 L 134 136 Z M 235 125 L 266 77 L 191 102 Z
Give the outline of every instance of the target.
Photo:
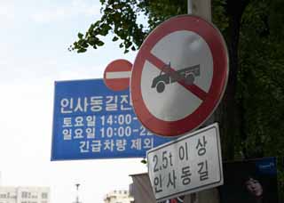
M 165 64 L 163 61 L 161 61 L 158 57 L 154 56 L 154 54 L 149 53 L 146 57 L 147 61 L 150 61 L 155 67 L 158 69 L 161 69 L 165 66 L 169 69 L 167 72 L 171 75 L 177 78 L 177 82 L 180 85 L 183 85 L 185 89 L 190 91 L 191 93 L 195 94 L 198 98 L 200 98 L 202 101 L 206 99 L 207 93 L 204 92 L 199 86 L 191 84 L 188 85 L 185 83 L 185 77 L 181 77 L 179 74 L 177 74 L 177 71 L 170 67 L 169 65 Z

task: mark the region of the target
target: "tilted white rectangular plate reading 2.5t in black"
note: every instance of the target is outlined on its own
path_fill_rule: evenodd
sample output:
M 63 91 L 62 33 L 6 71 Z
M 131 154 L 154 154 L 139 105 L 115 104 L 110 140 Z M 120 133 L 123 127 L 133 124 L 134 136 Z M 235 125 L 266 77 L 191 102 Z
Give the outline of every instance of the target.
M 148 150 L 147 163 L 157 201 L 222 185 L 217 124 Z

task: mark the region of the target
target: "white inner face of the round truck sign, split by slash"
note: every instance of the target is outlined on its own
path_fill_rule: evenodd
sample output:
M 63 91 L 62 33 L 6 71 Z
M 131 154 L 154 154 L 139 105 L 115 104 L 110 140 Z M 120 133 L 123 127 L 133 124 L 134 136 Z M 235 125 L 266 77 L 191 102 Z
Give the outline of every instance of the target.
M 146 108 L 155 118 L 164 121 L 176 121 L 193 114 L 203 98 L 185 89 L 177 79 L 169 77 L 168 81 L 165 72 L 170 67 L 192 77 L 192 84 L 208 93 L 213 77 L 209 45 L 196 33 L 183 30 L 162 37 L 151 53 L 168 67 L 157 68 L 152 58 L 146 61 L 141 75 L 141 93 Z

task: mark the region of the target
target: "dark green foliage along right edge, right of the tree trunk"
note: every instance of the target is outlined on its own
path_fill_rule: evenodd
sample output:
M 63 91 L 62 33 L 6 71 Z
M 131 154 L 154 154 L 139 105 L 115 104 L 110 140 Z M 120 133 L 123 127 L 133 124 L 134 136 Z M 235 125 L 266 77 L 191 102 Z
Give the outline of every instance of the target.
M 284 154 L 283 3 L 254 1 L 241 19 L 238 101 L 248 157 Z

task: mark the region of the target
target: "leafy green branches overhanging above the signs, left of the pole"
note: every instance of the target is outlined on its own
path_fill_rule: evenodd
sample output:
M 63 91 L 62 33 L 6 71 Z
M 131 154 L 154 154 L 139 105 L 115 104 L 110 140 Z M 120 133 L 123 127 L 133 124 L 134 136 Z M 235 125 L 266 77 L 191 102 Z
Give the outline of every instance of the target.
M 112 33 L 113 41 L 122 39 L 119 47 L 124 53 L 135 51 L 159 23 L 186 12 L 186 1 L 182 0 L 100 0 L 100 3 L 101 19 L 92 23 L 84 35 L 78 33 L 78 40 L 70 50 L 84 53 L 90 46 L 97 49 L 104 45 L 102 38 Z M 143 16 L 147 17 L 147 22 L 139 23 Z

